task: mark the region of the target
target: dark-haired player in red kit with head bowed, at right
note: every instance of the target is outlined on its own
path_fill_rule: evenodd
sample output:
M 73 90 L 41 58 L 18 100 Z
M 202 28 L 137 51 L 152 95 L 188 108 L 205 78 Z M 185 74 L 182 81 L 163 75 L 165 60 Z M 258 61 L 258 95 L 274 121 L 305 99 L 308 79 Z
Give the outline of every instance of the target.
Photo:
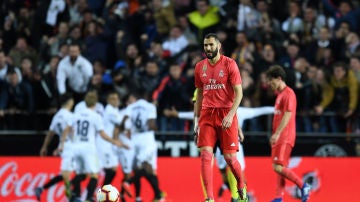
M 276 198 L 272 202 L 282 202 L 285 179 L 295 183 L 301 189 L 301 200 L 306 202 L 309 198 L 310 185 L 287 168 L 296 138 L 296 96 L 294 91 L 286 85 L 286 73 L 281 66 L 271 66 L 266 76 L 271 89 L 278 93 L 270 138 L 273 169 L 278 174 Z

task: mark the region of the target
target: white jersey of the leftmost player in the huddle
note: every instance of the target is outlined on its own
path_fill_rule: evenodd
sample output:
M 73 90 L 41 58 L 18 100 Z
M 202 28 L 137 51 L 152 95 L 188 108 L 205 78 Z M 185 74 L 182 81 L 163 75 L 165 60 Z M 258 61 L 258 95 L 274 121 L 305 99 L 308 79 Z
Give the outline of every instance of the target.
M 49 130 L 54 131 L 57 135 L 61 136 L 62 132 L 67 126 L 71 126 L 74 114 L 69 110 L 61 108 L 56 112 L 51 120 Z M 66 141 L 69 140 L 67 136 Z

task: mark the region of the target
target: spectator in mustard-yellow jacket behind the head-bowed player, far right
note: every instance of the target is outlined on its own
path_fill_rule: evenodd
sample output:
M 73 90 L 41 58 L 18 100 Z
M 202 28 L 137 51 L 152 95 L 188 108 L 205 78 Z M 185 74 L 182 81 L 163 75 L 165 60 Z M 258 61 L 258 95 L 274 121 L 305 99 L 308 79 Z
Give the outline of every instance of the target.
M 315 107 L 317 114 L 334 112 L 336 116 L 323 116 L 323 132 L 345 132 L 346 124 L 358 105 L 358 82 L 354 72 L 345 63 L 335 63 L 330 82 L 323 85 L 321 103 Z

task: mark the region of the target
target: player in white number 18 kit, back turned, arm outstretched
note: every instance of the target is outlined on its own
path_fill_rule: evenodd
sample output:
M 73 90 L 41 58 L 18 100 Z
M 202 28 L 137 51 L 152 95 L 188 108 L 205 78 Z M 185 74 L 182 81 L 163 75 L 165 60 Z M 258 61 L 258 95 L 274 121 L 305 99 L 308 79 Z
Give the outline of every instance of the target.
M 67 138 L 68 133 L 72 130 L 74 134 L 72 136 L 73 141 L 73 154 L 75 162 L 78 166 L 77 173 L 85 173 L 90 176 L 90 180 L 87 185 L 87 201 L 93 201 L 93 194 L 97 185 L 98 172 L 100 166 L 98 162 L 98 154 L 95 145 L 95 137 L 98 132 L 102 138 L 106 141 L 119 147 L 127 147 L 119 140 L 110 138 L 104 132 L 104 124 L 101 116 L 94 111 L 95 105 L 98 101 L 96 92 L 88 92 L 85 96 L 85 103 L 87 109 L 82 110 L 75 114 L 75 117 L 70 124 L 71 127 L 67 127 L 61 138 L 59 150 L 63 150 L 63 144 Z M 69 179 L 65 176 L 64 180 Z M 66 187 L 69 189 L 69 187 Z

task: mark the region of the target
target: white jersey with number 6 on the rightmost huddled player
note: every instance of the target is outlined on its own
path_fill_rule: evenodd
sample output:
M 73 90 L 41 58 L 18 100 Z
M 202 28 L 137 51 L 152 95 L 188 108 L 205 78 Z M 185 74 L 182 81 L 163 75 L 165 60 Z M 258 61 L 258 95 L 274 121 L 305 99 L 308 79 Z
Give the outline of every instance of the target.
M 131 134 L 149 131 L 148 120 L 156 119 L 157 116 L 156 106 L 144 99 L 139 99 L 127 106 L 125 114 L 130 119 Z

